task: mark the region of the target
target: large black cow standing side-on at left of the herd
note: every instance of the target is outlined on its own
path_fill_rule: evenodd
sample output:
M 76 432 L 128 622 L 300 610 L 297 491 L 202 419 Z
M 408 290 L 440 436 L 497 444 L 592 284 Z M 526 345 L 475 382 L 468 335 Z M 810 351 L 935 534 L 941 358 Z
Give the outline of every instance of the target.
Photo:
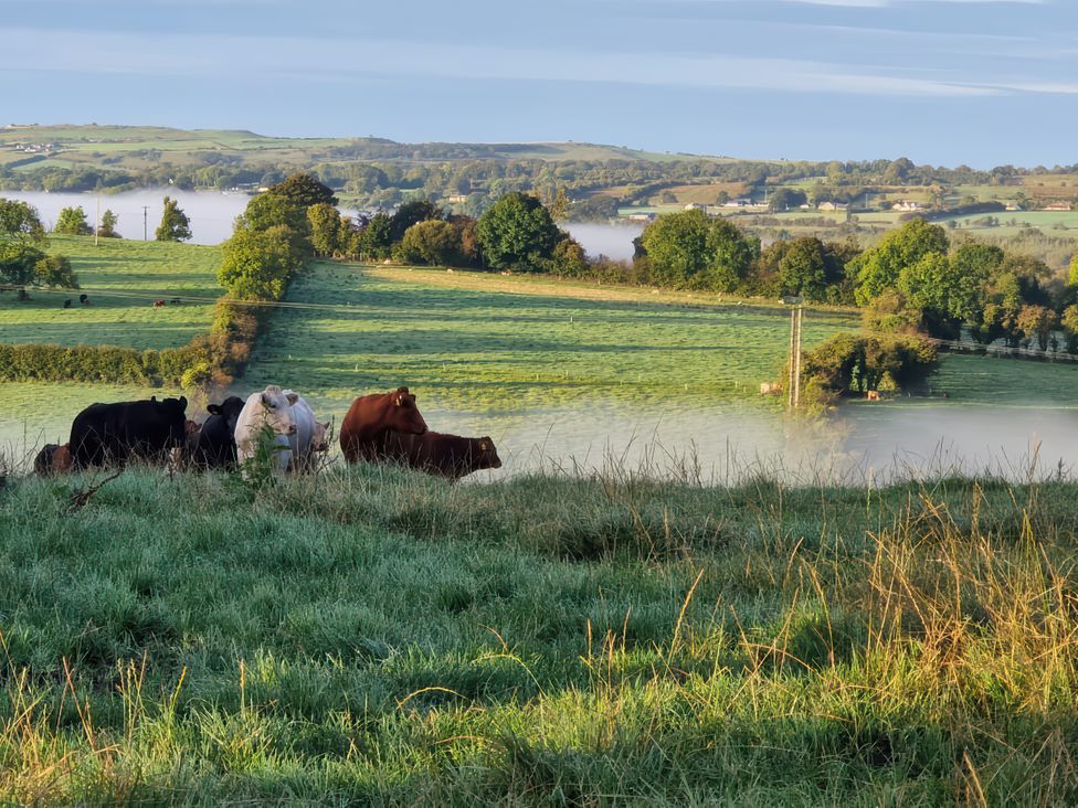
M 75 468 L 124 464 L 130 459 L 165 463 L 183 445 L 187 398 L 91 404 L 71 425 Z

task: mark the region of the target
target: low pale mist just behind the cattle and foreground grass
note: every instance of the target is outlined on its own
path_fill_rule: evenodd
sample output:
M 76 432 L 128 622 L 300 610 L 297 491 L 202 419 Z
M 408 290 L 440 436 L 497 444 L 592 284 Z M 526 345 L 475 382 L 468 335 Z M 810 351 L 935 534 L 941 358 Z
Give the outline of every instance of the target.
M 73 386 L 62 411 L 50 410 L 47 386 L 30 407 L 15 410 L 0 400 L 0 453 L 24 461 L 32 447 L 64 443 L 81 407 L 150 394 Z M 19 390 L 12 393 L 20 396 Z M 349 402 L 314 391 L 305 395 L 320 417 L 340 423 Z M 1069 477 L 1078 468 L 1078 408 L 853 404 L 837 416 L 805 422 L 736 406 L 655 412 L 592 402 L 575 408 L 462 412 L 443 408 L 433 396 L 427 402 L 424 416 L 440 432 L 494 438 L 505 465 L 479 478 L 542 468 L 615 469 L 718 483 L 765 475 L 790 483 L 879 485 L 952 474 L 1019 481 Z

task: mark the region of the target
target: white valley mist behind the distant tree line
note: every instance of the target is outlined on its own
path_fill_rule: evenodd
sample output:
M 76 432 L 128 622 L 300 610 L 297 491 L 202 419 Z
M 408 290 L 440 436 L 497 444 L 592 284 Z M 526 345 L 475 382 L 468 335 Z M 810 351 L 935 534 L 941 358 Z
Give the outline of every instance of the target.
M 127 191 L 101 195 L 101 210 L 110 210 L 119 217 L 117 232 L 124 238 L 141 238 L 145 234 L 154 237 L 154 231 L 161 222 L 165 196 L 177 200 L 191 221 L 191 243 L 220 244 L 232 235 L 232 223 L 243 213 L 251 200 L 245 193 L 221 193 L 214 191 L 181 191 L 176 188 Z M 97 195 L 92 193 L 44 193 L 22 191 L 0 191 L 0 196 L 29 202 L 41 214 L 45 226 L 52 230 L 60 211 L 64 208 L 81 206 L 86 219 L 93 222 L 97 210 Z M 145 211 L 144 211 L 145 209 Z M 348 215 L 355 210 L 341 208 Z M 633 240 L 638 236 L 643 225 L 633 224 L 578 224 L 567 230 L 581 243 L 590 256 L 605 255 L 610 258 L 633 257 Z

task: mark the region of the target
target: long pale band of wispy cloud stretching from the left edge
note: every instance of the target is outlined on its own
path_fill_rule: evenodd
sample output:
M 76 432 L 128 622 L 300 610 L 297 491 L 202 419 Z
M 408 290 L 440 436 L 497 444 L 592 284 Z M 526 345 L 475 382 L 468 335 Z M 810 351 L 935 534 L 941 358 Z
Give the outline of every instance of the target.
M 721 54 L 582 53 L 406 41 L 325 43 L 305 38 L 142 36 L 0 30 L 9 70 L 220 75 L 223 72 L 340 79 L 392 73 L 422 78 L 620 83 L 852 95 L 969 97 L 997 87 L 850 65 Z M 288 54 L 283 61 L 279 54 Z M 355 54 L 349 56 L 346 54 Z M 317 66 L 308 66 L 317 65 Z

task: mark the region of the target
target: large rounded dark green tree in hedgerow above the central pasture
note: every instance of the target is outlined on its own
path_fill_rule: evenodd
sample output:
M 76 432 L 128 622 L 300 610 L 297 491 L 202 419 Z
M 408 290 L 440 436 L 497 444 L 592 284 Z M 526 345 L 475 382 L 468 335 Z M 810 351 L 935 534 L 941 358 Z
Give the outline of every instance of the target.
M 476 225 L 486 261 L 495 269 L 546 272 L 564 234 L 538 198 L 507 193 Z

